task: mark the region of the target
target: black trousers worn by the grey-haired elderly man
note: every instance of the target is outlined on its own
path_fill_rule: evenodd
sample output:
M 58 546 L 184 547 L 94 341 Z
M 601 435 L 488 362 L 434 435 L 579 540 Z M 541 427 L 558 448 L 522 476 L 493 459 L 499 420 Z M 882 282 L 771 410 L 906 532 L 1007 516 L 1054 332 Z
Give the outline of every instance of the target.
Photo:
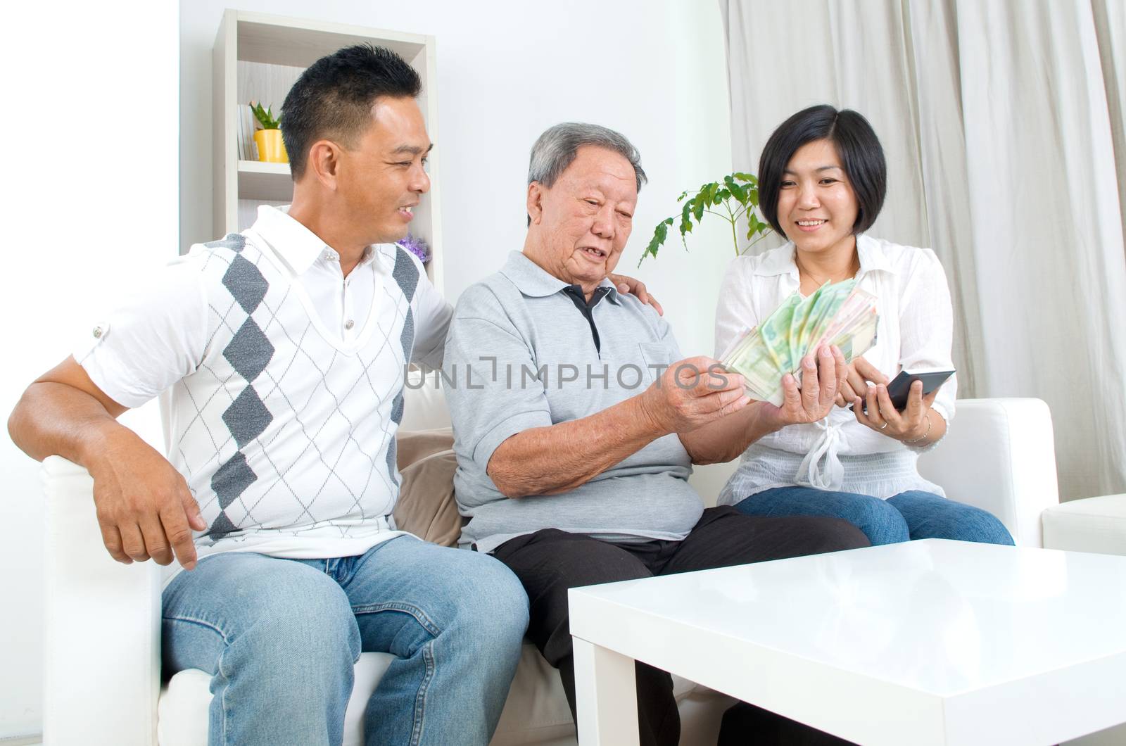
M 558 668 L 574 716 L 574 657 L 568 588 L 867 545 L 868 539 L 859 529 L 838 518 L 749 516 L 723 506 L 705 509 L 683 541 L 611 543 L 586 534 L 545 529 L 504 542 L 493 556 L 511 568 L 524 584 L 530 602 L 528 638 L 547 663 Z M 636 676 L 641 743 L 677 746 L 680 714 L 672 696 L 672 677 L 643 663 L 636 664 Z M 729 710 L 721 743 L 844 743 L 765 710 L 747 717 L 750 714 L 748 708 L 750 705 L 736 705 Z M 758 732 L 745 732 L 748 729 Z M 821 740 L 822 736 L 829 740 Z

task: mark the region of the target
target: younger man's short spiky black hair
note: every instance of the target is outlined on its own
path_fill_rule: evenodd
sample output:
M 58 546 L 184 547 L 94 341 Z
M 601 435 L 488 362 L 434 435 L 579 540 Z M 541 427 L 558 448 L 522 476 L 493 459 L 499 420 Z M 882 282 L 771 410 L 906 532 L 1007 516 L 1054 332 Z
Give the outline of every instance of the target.
M 382 46 L 346 46 L 311 64 L 282 104 L 282 139 L 294 180 L 305 172 L 309 149 L 318 140 L 351 148 L 372 124 L 375 99 L 418 98 L 420 92 L 414 68 Z

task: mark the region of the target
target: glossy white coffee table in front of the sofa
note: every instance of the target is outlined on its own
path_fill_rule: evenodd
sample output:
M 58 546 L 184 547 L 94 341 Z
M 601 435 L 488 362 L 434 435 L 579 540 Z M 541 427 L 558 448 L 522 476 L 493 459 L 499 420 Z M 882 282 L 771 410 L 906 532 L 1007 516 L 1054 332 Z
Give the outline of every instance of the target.
M 643 660 L 859 744 L 1126 721 L 1126 557 L 927 540 L 570 595 L 579 741 L 637 743 Z

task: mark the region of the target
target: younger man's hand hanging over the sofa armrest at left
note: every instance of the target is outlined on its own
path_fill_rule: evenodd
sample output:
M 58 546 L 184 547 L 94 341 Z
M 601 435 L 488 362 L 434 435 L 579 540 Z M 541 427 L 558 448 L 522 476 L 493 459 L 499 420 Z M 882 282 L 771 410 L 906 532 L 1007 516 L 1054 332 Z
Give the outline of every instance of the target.
M 177 559 L 190 570 L 196 563 L 191 530 L 204 531 L 207 523 L 184 476 L 132 430 L 107 429 L 97 456 L 87 459 L 106 550 L 126 565 Z

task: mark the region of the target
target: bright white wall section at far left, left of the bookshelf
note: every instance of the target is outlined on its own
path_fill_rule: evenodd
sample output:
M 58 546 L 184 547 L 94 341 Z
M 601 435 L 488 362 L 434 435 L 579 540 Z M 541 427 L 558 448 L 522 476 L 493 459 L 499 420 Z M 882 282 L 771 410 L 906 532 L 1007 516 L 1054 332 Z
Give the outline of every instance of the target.
M 5 11 L 0 414 L 68 354 L 99 288 L 177 246 L 176 6 L 18 3 Z M 0 738 L 41 730 L 43 503 L 0 435 Z M 82 624 L 84 610 L 73 610 Z

